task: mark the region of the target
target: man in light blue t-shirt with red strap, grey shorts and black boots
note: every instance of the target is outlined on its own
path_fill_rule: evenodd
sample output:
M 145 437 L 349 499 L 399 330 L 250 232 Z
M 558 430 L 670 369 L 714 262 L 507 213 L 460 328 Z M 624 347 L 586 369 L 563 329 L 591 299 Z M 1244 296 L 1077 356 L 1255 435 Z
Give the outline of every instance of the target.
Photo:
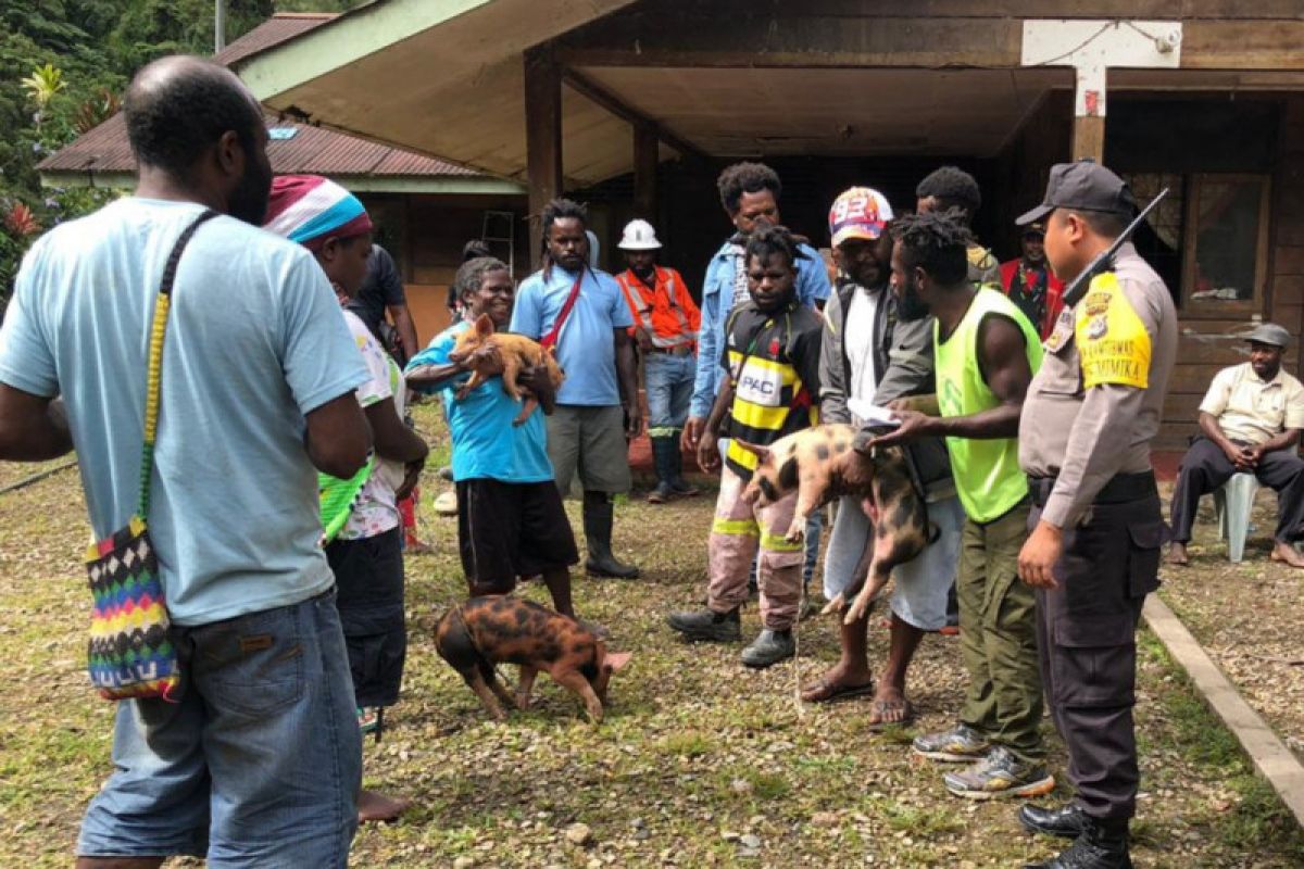
M 615 279 L 588 266 L 587 220 L 570 199 L 544 207 L 544 267 L 522 281 L 511 331 L 556 344 L 566 373 L 548 418 L 548 455 L 563 495 L 576 469 L 584 486 L 584 569 L 632 578 L 639 569 L 612 554 L 612 495 L 630 489 L 629 440 L 643 429 L 634 318 Z

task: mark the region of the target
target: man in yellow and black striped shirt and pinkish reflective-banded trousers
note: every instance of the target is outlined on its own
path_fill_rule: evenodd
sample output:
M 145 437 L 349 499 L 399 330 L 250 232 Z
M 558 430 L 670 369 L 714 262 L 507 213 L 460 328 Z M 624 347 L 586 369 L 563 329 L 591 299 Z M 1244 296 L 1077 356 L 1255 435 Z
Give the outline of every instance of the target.
M 738 640 L 738 608 L 747 599 L 747 575 L 759 546 L 764 629 L 742 653 L 743 663 L 758 668 L 793 655 L 803 546 L 782 537 L 797 507 L 795 492 L 763 508 L 742 499 L 756 456 L 737 440 L 768 446 L 816 422 L 823 327 L 819 315 L 797 300 L 799 255 L 782 228 L 756 231 L 747 242 L 751 300 L 729 318 L 720 360 L 725 378 L 698 447 L 698 464 L 716 470 L 719 439 L 729 438 L 708 545 L 707 610 L 669 618 L 670 627 L 690 640 Z

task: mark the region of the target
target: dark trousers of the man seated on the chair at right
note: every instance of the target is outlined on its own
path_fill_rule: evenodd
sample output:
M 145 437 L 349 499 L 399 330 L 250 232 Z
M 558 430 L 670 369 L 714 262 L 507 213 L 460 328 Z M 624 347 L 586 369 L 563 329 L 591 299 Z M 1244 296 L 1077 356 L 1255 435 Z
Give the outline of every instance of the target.
M 1191 541 L 1200 496 L 1221 489 L 1235 473 L 1231 459 L 1213 440 L 1200 435 L 1191 442 L 1172 490 L 1172 539 L 1179 543 Z M 1294 543 L 1304 535 L 1304 459 L 1295 449 L 1264 453 L 1254 468 L 1254 477 L 1277 492 L 1277 532 L 1273 538 Z

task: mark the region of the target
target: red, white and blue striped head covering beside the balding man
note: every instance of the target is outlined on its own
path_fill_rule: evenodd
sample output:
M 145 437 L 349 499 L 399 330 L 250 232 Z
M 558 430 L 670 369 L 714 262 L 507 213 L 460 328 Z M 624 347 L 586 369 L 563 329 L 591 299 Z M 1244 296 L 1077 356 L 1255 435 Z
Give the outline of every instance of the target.
M 366 208 L 352 193 L 319 175 L 282 175 L 271 181 L 263 229 L 316 250 L 327 238 L 372 231 Z

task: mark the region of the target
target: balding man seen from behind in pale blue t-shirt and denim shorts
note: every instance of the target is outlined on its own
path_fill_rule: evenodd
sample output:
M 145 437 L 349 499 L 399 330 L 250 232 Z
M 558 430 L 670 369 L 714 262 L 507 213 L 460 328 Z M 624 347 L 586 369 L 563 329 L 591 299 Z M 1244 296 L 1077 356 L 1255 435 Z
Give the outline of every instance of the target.
M 317 472 L 366 461 L 366 370 L 312 254 L 258 229 L 267 132 L 240 81 L 167 57 L 124 111 L 136 195 L 40 238 L 0 327 L 0 459 L 76 449 L 103 541 L 141 495 L 147 336 L 171 283 L 145 519 L 181 681 L 117 704 L 77 866 L 344 866 L 361 744 Z

